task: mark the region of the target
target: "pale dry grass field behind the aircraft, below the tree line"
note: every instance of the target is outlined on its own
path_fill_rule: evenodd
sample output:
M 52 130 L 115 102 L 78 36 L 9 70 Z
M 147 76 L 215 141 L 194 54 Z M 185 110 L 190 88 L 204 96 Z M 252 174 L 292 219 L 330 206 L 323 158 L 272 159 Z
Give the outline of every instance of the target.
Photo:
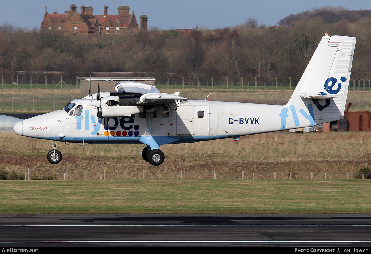
M 161 89 L 163 92 L 174 93 L 172 87 Z M 181 95 L 194 100 L 233 101 L 243 103 L 262 103 L 284 105 L 289 100 L 293 90 L 258 89 L 184 89 Z M 210 94 L 211 92 L 211 94 Z M 210 94 L 210 95 L 209 95 Z M 79 89 L 0 89 L 0 112 L 48 112 L 62 108 L 75 98 L 81 98 Z M 360 108 L 360 105 L 371 105 L 371 91 L 368 89 L 349 90 L 348 102 Z

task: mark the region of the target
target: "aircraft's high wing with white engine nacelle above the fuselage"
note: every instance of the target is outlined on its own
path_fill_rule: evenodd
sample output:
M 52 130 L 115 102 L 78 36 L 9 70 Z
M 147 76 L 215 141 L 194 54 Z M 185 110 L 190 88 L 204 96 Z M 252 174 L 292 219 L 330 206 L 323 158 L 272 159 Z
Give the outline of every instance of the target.
M 99 108 L 102 117 L 130 116 L 158 106 L 174 110 L 188 101 L 187 98 L 179 96 L 178 92 L 161 93 L 156 87 L 139 82 L 118 82 L 115 84 L 115 90 L 118 93 L 109 93 L 109 96 L 101 98 L 93 95 L 90 104 Z

